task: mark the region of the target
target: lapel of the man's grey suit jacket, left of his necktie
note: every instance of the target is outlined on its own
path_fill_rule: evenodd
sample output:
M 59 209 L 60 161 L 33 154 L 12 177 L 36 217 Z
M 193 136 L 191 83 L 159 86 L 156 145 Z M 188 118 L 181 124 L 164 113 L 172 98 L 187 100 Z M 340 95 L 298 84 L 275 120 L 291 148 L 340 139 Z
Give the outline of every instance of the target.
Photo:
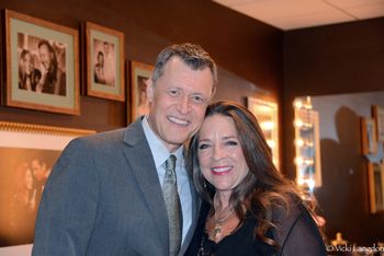
M 123 151 L 132 173 L 144 195 L 149 212 L 159 232 L 159 238 L 168 252 L 168 217 L 154 156 L 143 131 L 142 120 L 137 119 L 124 133 Z M 139 214 L 139 212 L 138 212 Z

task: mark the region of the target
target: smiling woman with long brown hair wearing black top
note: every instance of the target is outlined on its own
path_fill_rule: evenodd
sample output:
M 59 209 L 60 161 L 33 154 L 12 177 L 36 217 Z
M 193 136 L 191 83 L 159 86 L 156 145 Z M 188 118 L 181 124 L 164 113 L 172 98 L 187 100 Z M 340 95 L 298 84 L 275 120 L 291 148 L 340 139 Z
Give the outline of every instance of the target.
M 211 105 L 188 161 L 204 202 L 187 255 L 326 255 L 314 213 L 247 108 Z

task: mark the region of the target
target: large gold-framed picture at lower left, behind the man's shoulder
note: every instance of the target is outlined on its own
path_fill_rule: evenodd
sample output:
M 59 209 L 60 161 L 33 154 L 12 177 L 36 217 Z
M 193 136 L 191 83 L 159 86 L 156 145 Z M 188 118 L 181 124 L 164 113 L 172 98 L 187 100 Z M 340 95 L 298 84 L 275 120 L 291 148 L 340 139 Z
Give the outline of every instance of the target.
M 94 131 L 0 121 L 0 247 L 33 243 L 53 165 L 70 140 L 90 133 Z

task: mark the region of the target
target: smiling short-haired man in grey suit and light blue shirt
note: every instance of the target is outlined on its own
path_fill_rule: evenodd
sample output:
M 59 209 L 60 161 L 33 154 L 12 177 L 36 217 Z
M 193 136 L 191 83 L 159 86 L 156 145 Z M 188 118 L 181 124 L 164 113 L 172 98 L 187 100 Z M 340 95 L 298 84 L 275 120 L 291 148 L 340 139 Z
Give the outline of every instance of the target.
M 149 114 L 127 128 L 76 139 L 63 152 L 44 189 L 33 255 L 182 255 L 199 212 L 182 144 L 203 121 L 216 73 L 200 46 L 163 49 L 148 81 Z M 170 154 L 182 211 L 174 254 L 162 196 Z

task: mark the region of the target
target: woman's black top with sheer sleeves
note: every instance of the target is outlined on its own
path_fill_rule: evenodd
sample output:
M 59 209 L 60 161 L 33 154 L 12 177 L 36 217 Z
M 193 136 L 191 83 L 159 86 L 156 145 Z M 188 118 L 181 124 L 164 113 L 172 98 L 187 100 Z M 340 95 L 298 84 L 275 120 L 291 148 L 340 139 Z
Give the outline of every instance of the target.
M 211 206 L 202 203 L 197 226 L 192 242 L 184 255 L 187 256 L 325 256 L 326 249 L 321 235 L 305 207 L 301 203 L 290 206 L 290 214 L 282 217 L 282 212 L 274 212 L 278 220 L 278 231 L 267 232 L 267 236 L 276 241 L 280 245 L 275 248 L 256 238 L 253 230 L 257 224 L 255 218 L 247 218 L 244 223 L 230 235 L 225 236 L 218 243 L 208 238 L 205 232 L 205 222 Z

